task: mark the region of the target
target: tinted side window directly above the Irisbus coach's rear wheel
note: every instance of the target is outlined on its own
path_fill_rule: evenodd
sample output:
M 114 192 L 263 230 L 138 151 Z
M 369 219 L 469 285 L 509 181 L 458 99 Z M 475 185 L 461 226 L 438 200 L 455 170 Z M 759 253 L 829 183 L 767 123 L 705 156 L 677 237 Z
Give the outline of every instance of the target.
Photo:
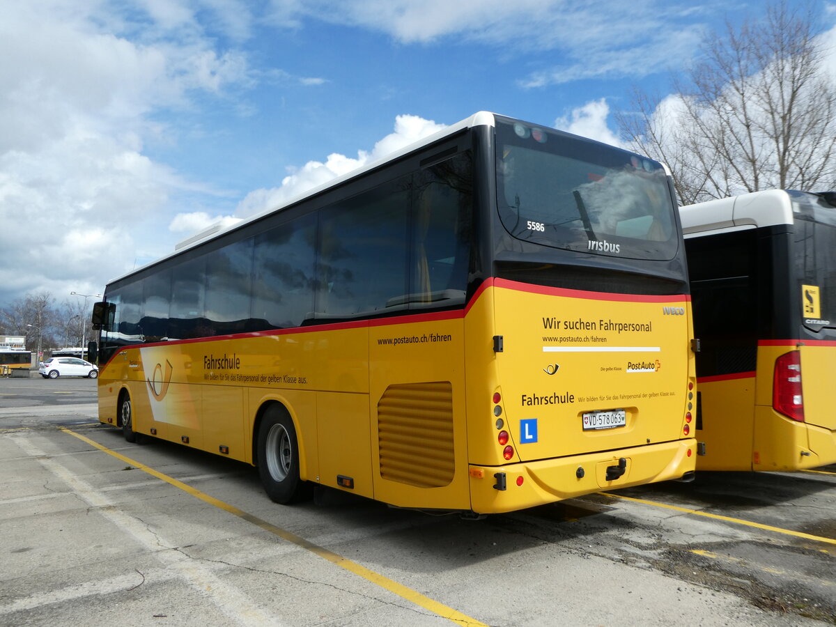
M 259 329 L 298 327 L 314 311 L 316 214 L 255 240 L 252 318 Z

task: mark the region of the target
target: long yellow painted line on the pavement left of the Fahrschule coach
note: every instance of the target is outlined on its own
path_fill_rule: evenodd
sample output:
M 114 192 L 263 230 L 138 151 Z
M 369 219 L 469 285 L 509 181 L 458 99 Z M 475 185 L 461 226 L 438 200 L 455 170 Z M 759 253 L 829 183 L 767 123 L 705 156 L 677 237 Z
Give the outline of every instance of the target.
M 337 553 L 332 553 L 327 548 L 320 547 L 312 542 L 309 542 L 305 538 L 296 535 L 295 533 L 291 533 L 286 529 L 277 527 L 273 523 L 268 523 L 266 520 L 263 520 L 259 517 L 253 516 L 247 512 L 244 512 L 241 509 L 238 509 L 234 505 L 230 505 L 227 502 L 223 502 L 215 497 L 210 497 L 206 492 L 201 492 L 194 487 L 187 485 L 181 481 L 178 481 L 174 477 L 169 477 L 168 475 L 163 474 L 160 471 L 151 468 L 150 466 L 145 466 L 145 464 L 141 463 L 140 461 L 136 461 L 131 459 L 130 457 L 126 457 L 121 453 L 117 453 L 116 451 L 111 451 L 107 446 L 103 446 L 99 444 L 99 442 L 90 440 L 89 437 L 82 436 L 80 433 L 76 433 L 71 429 L 67 429 L 66 427 L 60 427 L 61 431 L 64 433 L 68 433 L 70 436 L 75 436 L 79 438 L 79 440 L 87 442 L 90 446 L 99 449 L 104 453 L 107 453 L 110 456 L 114 456 L 116 459 L 121 461 L 125 461 L 125 463 L 130 464 L 130 466 L 134 466 L 135 468 L 147 472 L 152 477 L 157 477 L 162 481 L 171 484 L 174 487 L 180 488 L 183 492 L 188 492 L 191 494 L 192 497 L 196 497 L 201 499 L 201 501 L 209 503 L 210 505 L 214 505 L 219 509 L 224 510 L 225 512 L 229 512 L 243 520 L 246 520 L 247 523 L 252 523 L 257 527 L 262 528 L 264 531 L 268 531 L 269 533 L 273 533 L 277 535 L 279 538 L 283 538 L 288 542 L 291 542 L 298 546 L 299 548 L 304 548 L 306 551 L 310 551 L 315 555 L 318 555 L 320 558 L 327 559 L 329 562 L 336 564 L 340 568 L 344 568 L 351 573 L 357 574 L 363 579 L 370 581 L 373 584 L 379 585 L 383 589 L 387 589 L 390 592 L 397 594 L 400 596 L 401 599 L 405 599 L 410 601 L 410 603 L 414 603 L 416 605 L 420 605 L 424 609 L 429 609 L 434 614 L 438 614 L 442 618 L 451 620 L 456 624 L 461 625 L 472 625 L 473 627 L 487 627 L 486 624 L 478 621 L 477 619 L 472 619 L 470 616 L 466 614 L 461 614 L 461 612 L 452 609 L 451 607 L 446 606 L 445 604 L 441 604 L 434 599 L 430 599 L 429 597 L 421 594 L 420 592 L 415 592 L 415 590 L 407 588 L 403 584 L 399 584 L 398 582 L 385 577 L 380 573 L 375 573 L 375 571 L 370 570 L 369 568 L 365 568 L 364 566 L 360 566 L 359 563 L 352 562 L 350 559 L 344 558 L 342 555 L 338 555 Z

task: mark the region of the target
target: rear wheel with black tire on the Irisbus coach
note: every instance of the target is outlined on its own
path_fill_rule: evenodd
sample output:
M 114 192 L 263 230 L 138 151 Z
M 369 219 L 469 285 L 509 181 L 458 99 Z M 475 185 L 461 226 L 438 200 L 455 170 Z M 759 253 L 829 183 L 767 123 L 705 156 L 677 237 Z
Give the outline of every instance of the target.
M 288 412 L 272 405 L 258 427 L 258 474 L 270 500 L 286 505 L 310 497 L 310 484 L 299 478 L 299 446 Z

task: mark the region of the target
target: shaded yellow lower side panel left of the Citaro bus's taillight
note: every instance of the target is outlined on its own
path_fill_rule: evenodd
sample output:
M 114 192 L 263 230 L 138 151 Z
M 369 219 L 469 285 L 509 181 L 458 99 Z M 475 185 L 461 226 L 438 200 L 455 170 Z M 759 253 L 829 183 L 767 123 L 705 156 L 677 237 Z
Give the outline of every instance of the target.
M 698 381 L 701 430 L 706 454 L 697 456 L 697 470 L 751 471 L 755 377 L 706 377 Z

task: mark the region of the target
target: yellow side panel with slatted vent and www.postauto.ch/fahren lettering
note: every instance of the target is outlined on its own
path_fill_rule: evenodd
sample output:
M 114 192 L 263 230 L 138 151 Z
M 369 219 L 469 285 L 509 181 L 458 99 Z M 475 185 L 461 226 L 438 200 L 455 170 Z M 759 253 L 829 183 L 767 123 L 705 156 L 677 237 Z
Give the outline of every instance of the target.
M 464 323 L 459 313 L 433 318 L 370 328 L 375 499 L 470 509 Z

